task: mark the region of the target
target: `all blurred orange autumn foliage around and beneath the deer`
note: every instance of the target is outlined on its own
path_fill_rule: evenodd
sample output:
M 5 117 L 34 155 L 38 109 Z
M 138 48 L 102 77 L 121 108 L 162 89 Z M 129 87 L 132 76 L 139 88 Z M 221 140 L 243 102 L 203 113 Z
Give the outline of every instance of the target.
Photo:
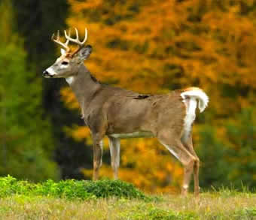
M 202 143 L 205 124 L 215 128 L 219 140 L 237 148 L 238 142 L 230 143 L 226 124 L 236 126 L 237 114 L 255 107 L 254 1 L 69 0 L 69 4 L 68 25 L 81 35 L 84 27 L 89 31 L 93 54 L 86 65 L 98 80 L 143 93 L 198 86 L 209 95 L 210 104 L 194 125 L 195 149 Z M 68 107 L 78 109 L 69 87 L 61 93 Z M 87 128 L 74 125 L 67 130 L 76 140 L 90 143 Z M 105 146 L 108 150 L 106 140 Z M 254 160 L 255 151 L 252 156 Z M 176 191 L 182 172 L 157 140 L 121 141 L 120 179 L 146 191 Z M 109 164 L 104 163 L 101 175 L 111 176 Z

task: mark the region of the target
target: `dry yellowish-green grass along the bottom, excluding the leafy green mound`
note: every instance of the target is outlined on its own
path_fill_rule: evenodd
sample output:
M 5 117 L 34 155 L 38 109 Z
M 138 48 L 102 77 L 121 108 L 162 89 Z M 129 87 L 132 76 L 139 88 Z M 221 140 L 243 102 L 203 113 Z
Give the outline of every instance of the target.
M 0 199 L 0 219 L 256 219 L 256 194 L 222 190 L 195 199 L 162 195 L 66 199 L 14 194 Z

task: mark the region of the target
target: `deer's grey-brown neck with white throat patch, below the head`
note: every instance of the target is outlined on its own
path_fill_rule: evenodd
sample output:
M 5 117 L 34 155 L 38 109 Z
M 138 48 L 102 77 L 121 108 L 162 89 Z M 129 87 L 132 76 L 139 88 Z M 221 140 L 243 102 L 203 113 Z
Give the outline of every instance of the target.
M 81 106 L 84 116 L 84 107 L 90 104 L 93 94 L 101 88 L 101 84 L 90 74 L 84 65 L 78 68 L 78 74 L 66 78 Z

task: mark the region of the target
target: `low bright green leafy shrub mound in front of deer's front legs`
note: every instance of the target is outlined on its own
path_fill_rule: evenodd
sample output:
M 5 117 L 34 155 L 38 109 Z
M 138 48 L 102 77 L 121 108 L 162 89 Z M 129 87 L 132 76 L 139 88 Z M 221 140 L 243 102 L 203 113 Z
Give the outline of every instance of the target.
M 47 180 L 41 183 L 18 181 L 12 176 L 0 178 L 0 197 L 11 194 L 32 194 L 52 197 L 79 198 L 82 200 L 93 197 L 125 197 L 150 200 L 142 191 L 132 184 L 120 180 L 102 179 L 98 181 L 67 179 L 59 182 Z

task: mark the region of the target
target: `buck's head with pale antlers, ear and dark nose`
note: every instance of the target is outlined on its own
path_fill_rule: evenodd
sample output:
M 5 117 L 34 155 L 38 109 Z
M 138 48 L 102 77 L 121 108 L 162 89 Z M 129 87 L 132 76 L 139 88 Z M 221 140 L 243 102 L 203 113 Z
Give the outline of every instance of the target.
M 66 31 L 64 31 L 66 37 L 66 43 L 62 43 L 59 39 L 59 31 L 57 32 L 57 37 L 52 36 L 52 40 L 57 44 L 61 45 L 63 48 L 60 50 L 61 56 L 56 59 L 56 62 L 47 68 L 43 72 L 43 76 L 46 78 L 66 78 L 72 77 L 78 73 L 79 66 L 90 56 L 92 52 L 92 47 L 90 45 L 84 45 L 87 41 L 87 29 L 85 29 L 84 41 L 79 40 L 78 29 L 75 29 L 76 38 L 70 37 Z M 78 44 L 78 49 L 71 52 L 69 48 L 69 41 Z

